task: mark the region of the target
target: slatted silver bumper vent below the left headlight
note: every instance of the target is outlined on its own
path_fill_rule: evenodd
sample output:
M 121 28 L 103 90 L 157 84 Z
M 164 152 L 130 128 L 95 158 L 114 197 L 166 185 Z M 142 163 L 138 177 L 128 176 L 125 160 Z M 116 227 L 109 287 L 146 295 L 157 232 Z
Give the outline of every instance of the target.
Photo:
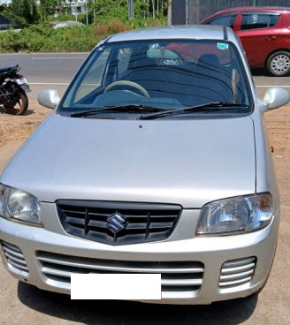
M 6 257 L 7 264 L 12 268 L 22 272 L 22 276 L 28 276 L 27 262 L 18 246 L 9 244 L 7 242 L 2 242 L 2 248 L 4 250 L 4 256 Z M 25 272 L 26 275 L 23 273 Z

